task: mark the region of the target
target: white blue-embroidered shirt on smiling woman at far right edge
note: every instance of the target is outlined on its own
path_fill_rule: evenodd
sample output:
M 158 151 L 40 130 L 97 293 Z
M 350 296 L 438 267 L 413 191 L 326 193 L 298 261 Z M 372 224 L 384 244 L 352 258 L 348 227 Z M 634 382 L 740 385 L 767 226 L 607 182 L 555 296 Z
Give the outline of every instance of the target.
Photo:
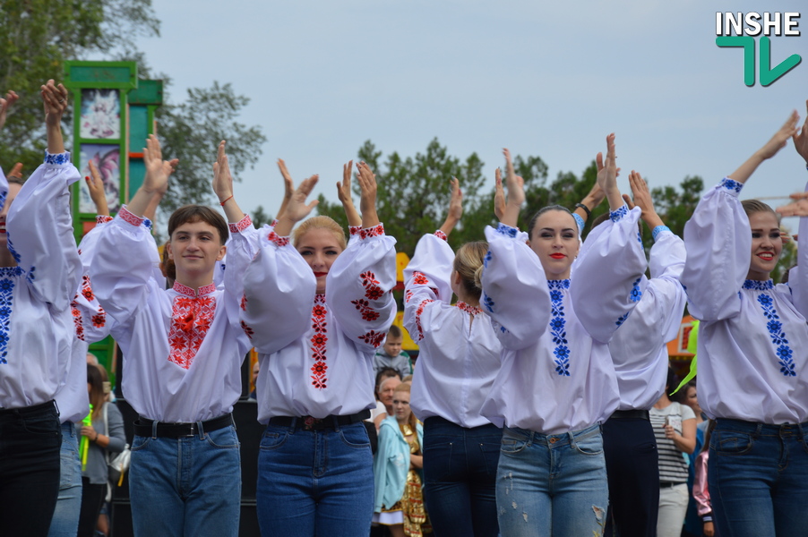
M 710 418 L 808 421 L 808 246 L 788 284 L 746 280 L 752 251 L 743 187 L 726 178 L 684 226 L 682 283 L 699 328 L 699 403 Z M 808 239 L 808 218 L 799 238 Z

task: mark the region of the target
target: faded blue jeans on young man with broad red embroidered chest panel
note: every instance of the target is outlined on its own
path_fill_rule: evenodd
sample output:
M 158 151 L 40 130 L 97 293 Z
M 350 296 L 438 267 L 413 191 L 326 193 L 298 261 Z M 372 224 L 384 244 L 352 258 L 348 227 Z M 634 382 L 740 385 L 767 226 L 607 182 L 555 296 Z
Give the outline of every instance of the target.
M 199 426 L 193 437 L 134 436 L 129 496 L 135 535 L 238 534 L 241 456 L 236 427 L 205 432 Z

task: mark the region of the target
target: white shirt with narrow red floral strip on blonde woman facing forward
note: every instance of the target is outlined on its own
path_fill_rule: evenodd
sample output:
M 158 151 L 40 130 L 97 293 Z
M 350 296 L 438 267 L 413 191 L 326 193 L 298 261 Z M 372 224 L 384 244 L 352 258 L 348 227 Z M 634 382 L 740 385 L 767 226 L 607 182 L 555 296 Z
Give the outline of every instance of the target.
M 395 243 L 381 224 L 362 229 L 331 264 L 326 294 L 315 294 L 312 268 L 288 237 L 261 237 L 242 312 L 261 361 L 259 422 L 374 408 L 374 352 L 396 315 Z

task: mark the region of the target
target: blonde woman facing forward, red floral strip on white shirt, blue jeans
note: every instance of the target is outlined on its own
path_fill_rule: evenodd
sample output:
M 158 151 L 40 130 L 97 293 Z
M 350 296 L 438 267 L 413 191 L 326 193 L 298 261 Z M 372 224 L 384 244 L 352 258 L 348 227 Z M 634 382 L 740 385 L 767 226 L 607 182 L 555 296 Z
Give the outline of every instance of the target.
M 264 536 L 370 533 L 373 456 L 363 421 L 375 406 L 375 348 L 396 314 L 396 263 L 395 239 L 376 215 L 374 174 L 364 162 L 357 169 L 361 228 L 350 243 L 329 217 L 303 221 L 290 242 L 317 203 L 306 204 L 314 175 L 262 236 L 245 276 L 242 320 L 261 361 L 258 420 L 267 424 L 257 490 Z M 350 167 L 343 172 L 349 180 Z M 345 205 L 349 189 L 338 186 Z

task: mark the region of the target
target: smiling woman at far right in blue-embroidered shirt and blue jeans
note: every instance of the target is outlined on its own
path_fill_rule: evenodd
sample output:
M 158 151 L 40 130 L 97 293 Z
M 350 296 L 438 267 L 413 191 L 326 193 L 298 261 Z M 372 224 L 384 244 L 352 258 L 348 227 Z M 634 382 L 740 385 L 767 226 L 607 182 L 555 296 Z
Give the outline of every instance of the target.
M 800 131 L 798 121 L 794 112 L 707 192 L 684 228 L 681 280 L 701 320 L 700 403 L 717 420 L 708 473 L 720 535 L 802 535 L 808 526 L 808 245 L 800 245 L 788 284 L 776 286 L 778 214 L 759 200 L 738 200 L 755 169 L 789 138 L 808 163 L 808 122 Z M 808 237 L 804 196 L 778 209 L 801 217 L 801 239 Z

